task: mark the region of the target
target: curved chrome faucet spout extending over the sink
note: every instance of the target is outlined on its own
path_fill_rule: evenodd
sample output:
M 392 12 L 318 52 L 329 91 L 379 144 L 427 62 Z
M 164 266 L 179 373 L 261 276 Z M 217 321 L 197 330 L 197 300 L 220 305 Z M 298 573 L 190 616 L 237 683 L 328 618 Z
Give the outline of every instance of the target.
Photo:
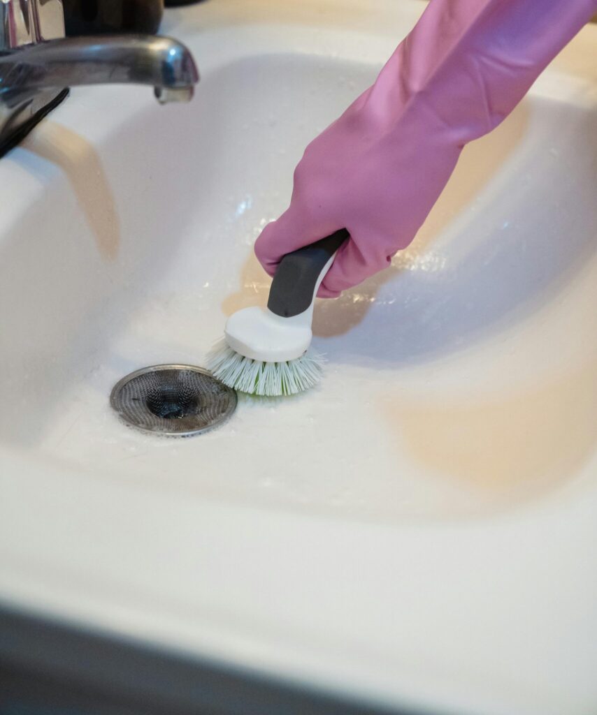
M 0 97 L 87 84 L 148 84 L 163 104 L 189 101 L 198 80 L 190 51 L 162 36 L 70 37 L 0 54 Z

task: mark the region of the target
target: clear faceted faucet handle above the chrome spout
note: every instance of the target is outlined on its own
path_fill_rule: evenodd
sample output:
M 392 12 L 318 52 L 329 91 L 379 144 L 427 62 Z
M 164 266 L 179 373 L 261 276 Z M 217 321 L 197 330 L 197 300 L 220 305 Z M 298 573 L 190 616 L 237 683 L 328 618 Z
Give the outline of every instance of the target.
M 0 0 L 0 50 L 60 37 L 62 0 Z

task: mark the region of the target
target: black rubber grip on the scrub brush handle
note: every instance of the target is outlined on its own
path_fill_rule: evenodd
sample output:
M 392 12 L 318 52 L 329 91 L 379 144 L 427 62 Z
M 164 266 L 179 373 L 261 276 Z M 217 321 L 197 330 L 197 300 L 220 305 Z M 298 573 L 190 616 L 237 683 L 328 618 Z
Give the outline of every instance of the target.
M 343 228 L 320 241 L 287 253 L 271 283 L 269 310 L 281 317 L 293 317 L 307 310 L 321 271 L 349 237 L 349 232 Z

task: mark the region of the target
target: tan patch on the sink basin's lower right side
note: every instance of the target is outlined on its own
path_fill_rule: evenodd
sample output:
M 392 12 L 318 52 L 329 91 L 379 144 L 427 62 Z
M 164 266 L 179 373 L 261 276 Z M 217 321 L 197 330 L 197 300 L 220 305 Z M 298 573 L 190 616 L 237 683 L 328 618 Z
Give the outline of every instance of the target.
M 392 433 L 425 470 L 480 502 L 540 495 L 578 475 L 597 447 L 597 362 L 503 398 L 385 404 Z

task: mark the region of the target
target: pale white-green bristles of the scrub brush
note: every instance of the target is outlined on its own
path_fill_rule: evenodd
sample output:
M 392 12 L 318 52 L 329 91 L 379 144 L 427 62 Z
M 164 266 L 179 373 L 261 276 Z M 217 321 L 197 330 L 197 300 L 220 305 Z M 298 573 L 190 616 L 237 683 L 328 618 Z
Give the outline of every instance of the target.
M 208 355 L 208 368 L 228 387 L 249 395 L 296 395 L 312 388 L 321 379 L 324 358 L 307 350 L 287 363 L 262 363 L 240 355 L 220 340 Z

